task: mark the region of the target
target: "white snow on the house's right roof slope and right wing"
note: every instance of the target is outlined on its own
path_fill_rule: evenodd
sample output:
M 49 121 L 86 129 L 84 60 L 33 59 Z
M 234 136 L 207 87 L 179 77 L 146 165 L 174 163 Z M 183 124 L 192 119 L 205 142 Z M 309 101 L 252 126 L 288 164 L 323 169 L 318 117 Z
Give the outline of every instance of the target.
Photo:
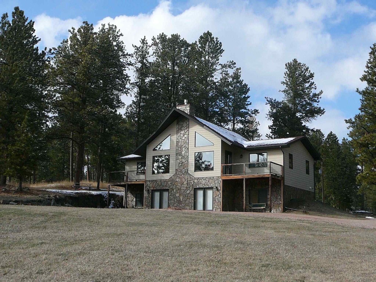
M 255 140 L 249 141 L 248 139 L 244 138 L 238 133 L 233 132 L 232 130 L 226 129 L 224 127 L 218 126 L 214 123 L 209 121 L 203 120 L 202 118 L 195 117 L 198 121 L 205 124 L 210 129 L 214 130 L 218 134 L 222 135 L 224 138 L 228 139 L 229 141 L 239 143 L 244 146 L 244 148 L 252 148 L 256 146 L 273 146 L 273 145 L 285 145 L 296 137 L 289 137 L 289 138 L 279 138 L 279 139 L 267 139 L 267 140 Z

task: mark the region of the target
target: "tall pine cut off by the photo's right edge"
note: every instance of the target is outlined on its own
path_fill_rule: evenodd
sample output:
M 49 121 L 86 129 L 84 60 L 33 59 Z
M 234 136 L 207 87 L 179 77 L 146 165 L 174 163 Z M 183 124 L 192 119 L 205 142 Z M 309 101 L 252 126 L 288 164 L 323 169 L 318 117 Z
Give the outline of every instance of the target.
M 376 208 L 376 43 L 370 49 L 364 74 L 360 78 L 367 86 L 362 90 L 356 89 L 361 95 L 360 112 L 353 119 L 346 120 L 346 123 L 349 124 L 356 161 L 363 168 L 357 181 L 366 197 L 373 199 L 370 206 Z

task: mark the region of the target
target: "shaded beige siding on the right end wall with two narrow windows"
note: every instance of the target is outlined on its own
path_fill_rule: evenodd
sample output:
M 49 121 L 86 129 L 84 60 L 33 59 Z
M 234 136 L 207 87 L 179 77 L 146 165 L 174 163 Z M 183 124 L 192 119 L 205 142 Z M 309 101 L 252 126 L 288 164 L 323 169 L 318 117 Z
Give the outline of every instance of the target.
M 314 191 L 314 161 L 302 142 L 293 143 L 283 150 L 285 152 L 285 185 Z M 293 155 L 293 169 L 288 166 L 289 153 Z M 306 160 L 309 161 L 309 174 L 306 174 Z

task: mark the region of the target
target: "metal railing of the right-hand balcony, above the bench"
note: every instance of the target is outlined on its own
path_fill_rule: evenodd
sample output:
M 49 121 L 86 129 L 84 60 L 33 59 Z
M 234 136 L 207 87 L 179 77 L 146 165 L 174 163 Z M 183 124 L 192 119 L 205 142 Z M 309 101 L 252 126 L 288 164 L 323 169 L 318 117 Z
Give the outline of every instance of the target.
M 282 176 L 282 165 L 275 162 L 246 162 L 222 165 L 222 175 L 241 174 L 275 174 Z

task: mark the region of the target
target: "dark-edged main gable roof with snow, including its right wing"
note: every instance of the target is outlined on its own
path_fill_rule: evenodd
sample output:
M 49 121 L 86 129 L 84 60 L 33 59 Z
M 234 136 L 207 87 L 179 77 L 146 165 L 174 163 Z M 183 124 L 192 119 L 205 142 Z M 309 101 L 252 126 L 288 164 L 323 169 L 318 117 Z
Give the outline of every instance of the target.
M 249 141 L 245 137 L 241 136 L 240 134 L 233 132 L 227 128 L 218 126 L 214 123 L 209 121 L 203 120 L 202 118 L 195 117 L 193 115 L 188 115 L 186 112 L 180 111 L 179 109 L 172 109 L 167 117 L 162 121 L 160 126 L 157 128 L 155 132 L 152 133 L 148 138 L 144 140 L 141 145 L 139 145 L 134 154 L 138 155 L 145 155 L 146 146 L 149 144 L 154 138 L 156 138 L 159 134 L 161 134 L 170 124 L 176 120 L 179 115 L 183 115 L 190 120 L 195 121 L 200 126 L 204 127 L 214 135 L 218 136 L 222 141 L 226 142 L 229 145 L 237 146 L 242 149 L 248 150 L 258 150 L 258 149 L 279 149 L 279 148 L 287 148 L 290 147 L 290 144 L 293 144 L 297 141 L 301 141 L 303 145 L 306 147 L 308 152 L 312 155 L 315 161 L 320 160 L 320 154 L 315 150 L 312 144 L 309 142 L 306 136 L 297 136 L 297 137 L 288 137 L 288 138 L 278 138 L 278 139 L 267 139 L 267 140 L 255 140 Z

